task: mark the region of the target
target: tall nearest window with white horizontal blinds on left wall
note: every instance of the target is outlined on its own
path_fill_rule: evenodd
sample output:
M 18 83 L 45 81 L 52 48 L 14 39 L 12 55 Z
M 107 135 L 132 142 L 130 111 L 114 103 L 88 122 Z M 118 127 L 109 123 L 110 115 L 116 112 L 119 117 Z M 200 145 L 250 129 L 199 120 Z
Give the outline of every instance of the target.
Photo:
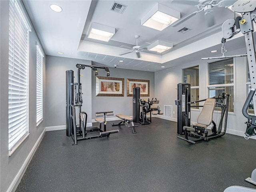
M 28 135 L 28 50 L 30 25 L 22 6 L 10 0 L 9 6 L 9 153 Z

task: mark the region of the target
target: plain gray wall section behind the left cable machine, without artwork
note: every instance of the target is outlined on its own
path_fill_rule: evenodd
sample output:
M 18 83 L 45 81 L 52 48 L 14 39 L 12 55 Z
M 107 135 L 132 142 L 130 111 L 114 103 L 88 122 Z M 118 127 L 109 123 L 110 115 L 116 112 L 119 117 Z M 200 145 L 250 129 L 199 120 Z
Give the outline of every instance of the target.
M 66 70 L 74 71 L 74 82 L 77 82 L 76 64 L 91 65 L 91 61 L 65 57 L 46 56 L 46 127 L 66 125 Z M 92 120 L 92 83 L 91 69 L 86 67 L 80 71 L 82 84 L 82 111 L 88 115 L 88 123 Z

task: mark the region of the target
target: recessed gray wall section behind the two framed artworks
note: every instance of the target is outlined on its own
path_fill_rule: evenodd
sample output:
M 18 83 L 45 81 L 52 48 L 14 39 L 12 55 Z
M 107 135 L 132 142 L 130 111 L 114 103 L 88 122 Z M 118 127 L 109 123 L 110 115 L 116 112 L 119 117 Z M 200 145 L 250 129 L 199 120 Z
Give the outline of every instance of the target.
M 128 70 L 120 68 L 109 68 L 110 77 L 124 78 L 124 96 L 123 97 L 109 97 L 109 96 L 96 96 L 96 76 L 92 72 L 92 118 L 95 118 L 95 113 L 100 111 L 113 111 L 116 114 L 125 114 L 132 116 L 132 96 L 126 94 L 126 82 L 129 79 L 150 80 L 150 96 L 141 97 L 142 99 L 152 99 L 155 96 L 155 80 L 154 72 Z M 98 70 L 98 76 L 106 76 L 105 70 Z

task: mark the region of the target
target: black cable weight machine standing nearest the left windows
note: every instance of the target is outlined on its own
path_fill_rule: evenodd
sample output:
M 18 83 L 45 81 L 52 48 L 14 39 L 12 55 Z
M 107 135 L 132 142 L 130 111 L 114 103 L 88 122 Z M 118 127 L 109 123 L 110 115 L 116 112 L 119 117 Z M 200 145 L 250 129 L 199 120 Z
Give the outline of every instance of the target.
M 98 75 L 98 68 L 104 69 L 107 72 L 107 76 L 110 76 L 109 69 L 107 67 L 93 66 L 93 65 L 84 65 L 76 64 L 77 70 L 77 83 L 74 83 L 74 71 L 66 71 L 66 136 L 72 137 L 74 144 L 76 145 L 80 140 L 88 140 L 92 138 L 108 137 L 112 133 L 117 133 L 119 130 L 106 131 L 106 114 L 112 111 L 107 112 L 97 112 L 104 114 L 104 130 L 100 127 L 86 129 L 87 123 L 87 114 L 82 112 L 82 85 L 80 83 L 80 70 L 90 67 L 95 71 L 95 76 Z M 79 123 L 76 124 L 76 108 L 78 108 Z M 97 114 L 96 113 L 96 114 Z M 88 132 L 96 132 L 98 135 L 88 136 Z

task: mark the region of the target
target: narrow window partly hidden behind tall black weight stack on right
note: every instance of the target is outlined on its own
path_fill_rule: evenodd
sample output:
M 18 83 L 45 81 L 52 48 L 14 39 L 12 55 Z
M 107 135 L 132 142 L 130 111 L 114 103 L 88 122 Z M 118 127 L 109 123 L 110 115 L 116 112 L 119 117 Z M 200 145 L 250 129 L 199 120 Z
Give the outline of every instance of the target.
M 191 85 L 190 100 L 199 100 L 199 66 L 182 69 L 182 82 L 189 83 Z M 199 106 L 199 102 L 195 104 Z M 193 107 L 198 109 L 199 107 Z

